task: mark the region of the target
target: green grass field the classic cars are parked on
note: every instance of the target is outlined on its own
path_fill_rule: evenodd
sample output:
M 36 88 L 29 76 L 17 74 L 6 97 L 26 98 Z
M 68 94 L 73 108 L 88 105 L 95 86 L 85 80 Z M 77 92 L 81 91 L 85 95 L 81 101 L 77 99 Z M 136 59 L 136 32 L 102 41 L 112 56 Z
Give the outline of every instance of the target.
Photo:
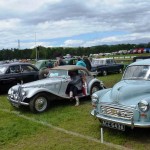
M 106 87 L 112 87 L 121 74 L 100 76 Z M 7 95 L 0 96 L 0 149 L 10 150 L 107 150 L 118 149 L 100 143 L 100 122 L 91 115 L 90 98 L 51 103 L 48 111 L 33 114 L 27 108 L 14 109 Z M 82 135 L 82 136 L 81 136 Z M 89 138 L 90 137 L 90 138 Z M 94 140 L 92 140 L 94 139 Z M 149 129 L 127 129 L 125 132 L 104 128 L 104 141 L 131 149 L 150 147 Z M 97 140 L 97 141 L 96 141 Z M 122 149 L 122 148 L 120 148 Z

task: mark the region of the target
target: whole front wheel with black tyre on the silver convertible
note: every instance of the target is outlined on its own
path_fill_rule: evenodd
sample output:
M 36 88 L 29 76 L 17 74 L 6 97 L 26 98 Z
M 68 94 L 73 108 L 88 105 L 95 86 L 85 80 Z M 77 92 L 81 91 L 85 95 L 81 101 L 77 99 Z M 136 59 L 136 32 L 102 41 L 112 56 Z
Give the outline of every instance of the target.
M 41 113 L 48 107 L 48 97 L 44 93 L 35 95 L 29 102 L 29 107 L 32 112 Z

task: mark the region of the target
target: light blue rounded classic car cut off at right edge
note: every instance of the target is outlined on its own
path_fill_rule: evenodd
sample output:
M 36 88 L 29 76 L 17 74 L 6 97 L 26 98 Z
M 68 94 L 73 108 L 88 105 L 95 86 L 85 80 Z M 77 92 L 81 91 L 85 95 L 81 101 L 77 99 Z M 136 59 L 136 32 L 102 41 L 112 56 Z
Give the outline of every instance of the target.
M 120 82 L 92 94 L 92 106 L 91 114 L 105 127 L 149 128 L 150 59 L 130 64 Z

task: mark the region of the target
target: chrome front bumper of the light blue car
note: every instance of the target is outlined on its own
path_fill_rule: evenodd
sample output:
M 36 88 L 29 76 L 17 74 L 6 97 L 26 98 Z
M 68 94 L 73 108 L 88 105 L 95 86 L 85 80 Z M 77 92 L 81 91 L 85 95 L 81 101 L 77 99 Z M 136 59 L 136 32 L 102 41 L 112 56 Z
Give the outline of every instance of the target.
M 130 126 L 131 128 L 134 127 L 139 127 L 139 128 L 150 128 L 150 122 L 134 122 L 133 119 L 131 120 L 123 120 L 120 118 L 112 118 L 112 117 L 107 117 L 104 116 L 102 114 L 97 114 L 96 110 L 92 110 L 91 111 L 91 115 L 95 116 L 96 118 L 100 119 L 100 120 L 105 120 L 105 121 L 110 121 L 110 122 L 116 122 L 116 123 L 120 123 L 120 124 L 124 124 L 126 126 Z

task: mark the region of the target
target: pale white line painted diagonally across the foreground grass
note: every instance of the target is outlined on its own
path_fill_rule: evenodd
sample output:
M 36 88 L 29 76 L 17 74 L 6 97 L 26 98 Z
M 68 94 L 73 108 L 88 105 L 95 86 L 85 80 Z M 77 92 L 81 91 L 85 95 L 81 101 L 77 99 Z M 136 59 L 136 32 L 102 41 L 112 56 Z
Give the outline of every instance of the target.
M 38 124 L 42 124 L 42 125 L 44 125 L 44 126 L 50 127 L 50 128 L 52 128 L 52 129 L 55 129 L 55 130 L 57 130 L 57 131 L 60 131 L 60 132 L 63 132 L 63 133 L 69 134 L 69 135 L 81 137 L 81 138 L 83 138 L 83 139 L 86 139 L 86 140 L 89 140 L 89 141 L 94 141 L 94 142 L 96 142 L 96 143 L 105 144 L 105 145 L 107 145 L 107 146 L 109 146 L 109 147 L 113 147 L 113 148 L 116 148 L 116 149 L 119 149 L 119 150 L 131 150 L 131 149 L 126 148 L 126 147 L 124 147 L 124 146 L 120 146 L 120 145 L 108 143 L 108 142 L 105 142 L 105 141 L 103 141 L 103 143 L 101 143 L 101 141 L 98 140 L 98 139 L 92 138 L 92 137 L 90 137 L 90 136 L 85 136 L 85 135 L 82 135 L 82 134 L 79 134 L 79 133 L 76 133 L 76 132 L 68 131 L 68 130 L 65 130 L 65 129 L 63 129 L 63 128 L 59 128 L 59 127 L 53 126 L 53 125 L 50 124 L 50 123 L 47 123 L 47 122 L 44 122 L 44 121 L 39 121 L 39 120 L 36 120 L 36 119 L 34 119 L 34 118 L 25 116 L 25 115 L 21 115 L 18 111 L 10 111 L 10 110 L 8 110 L 8 109 L 0 109 L 0 111 L 7 112 L 7 113 L 10 113 L 10 114 L 15 114 L 15 115 L 17 115 L 17 116 L 20 117 L 20 118 L 24 118 L 24 119 L 26 119 L 26 120 L 30 120 L 30 121 L 35 122 L 35 123 L 38 123 Z

